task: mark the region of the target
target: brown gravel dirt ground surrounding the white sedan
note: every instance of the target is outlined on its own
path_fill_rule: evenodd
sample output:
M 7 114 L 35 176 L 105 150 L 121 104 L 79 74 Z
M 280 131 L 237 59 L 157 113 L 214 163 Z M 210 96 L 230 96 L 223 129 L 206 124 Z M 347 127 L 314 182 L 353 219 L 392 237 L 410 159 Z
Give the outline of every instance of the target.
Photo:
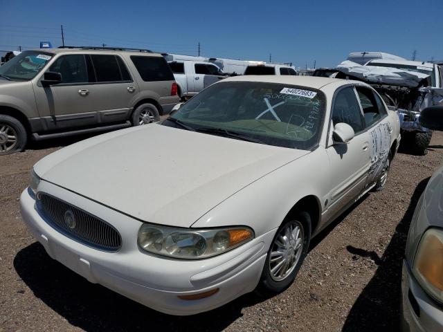
M 386 189 L 363 197 L 313 240 L 287 291 L 244 295 L 193 317 L 163 315 L 89 284 L 30 237 L 19 194 L 30 167 L 59 147 L 50 141 L 0 157 L 0 331 L 397 331 L 410 218 L 443 163 L 443 133 L 434 134 L 426 156 L 397 154 Z

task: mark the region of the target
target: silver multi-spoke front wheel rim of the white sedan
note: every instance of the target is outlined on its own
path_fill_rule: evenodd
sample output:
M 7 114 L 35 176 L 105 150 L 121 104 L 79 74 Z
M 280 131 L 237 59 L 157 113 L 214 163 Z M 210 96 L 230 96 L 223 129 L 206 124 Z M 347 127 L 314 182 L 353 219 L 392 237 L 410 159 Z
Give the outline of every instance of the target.
M 305 234 L 299 221 L 291 221 L 282 228 L 272 243 L 269 272 L 275 282 L 286 279 L 296 268 L 302 255 Z

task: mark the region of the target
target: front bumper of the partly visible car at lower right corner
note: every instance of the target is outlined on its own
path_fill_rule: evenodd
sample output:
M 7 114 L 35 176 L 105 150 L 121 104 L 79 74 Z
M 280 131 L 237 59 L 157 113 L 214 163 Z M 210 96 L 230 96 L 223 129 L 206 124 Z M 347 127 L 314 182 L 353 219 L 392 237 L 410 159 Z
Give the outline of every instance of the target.
M 401 273 L 403 331 L 443 331 L 442 308 L 424 293 L 406 260 Z

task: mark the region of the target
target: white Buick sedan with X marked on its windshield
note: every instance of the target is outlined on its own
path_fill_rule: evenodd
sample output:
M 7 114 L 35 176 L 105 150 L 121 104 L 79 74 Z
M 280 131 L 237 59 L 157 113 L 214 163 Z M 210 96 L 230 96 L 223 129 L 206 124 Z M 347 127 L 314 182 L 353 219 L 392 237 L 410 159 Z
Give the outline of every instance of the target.
M 383 188 L 399 140 L 367 84 L 232 77 L 161 123 L 46 156 L 21 212 L 75 273 L 191 315 L 287 288 L 310 239 Z

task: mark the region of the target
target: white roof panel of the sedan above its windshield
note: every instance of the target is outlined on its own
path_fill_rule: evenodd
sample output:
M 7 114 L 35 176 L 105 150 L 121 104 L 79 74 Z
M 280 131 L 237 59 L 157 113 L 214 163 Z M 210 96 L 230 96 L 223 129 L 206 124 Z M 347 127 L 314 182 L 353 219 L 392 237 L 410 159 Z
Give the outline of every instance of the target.
M 343 80 L 330 77 L 314 77 L 314 76 L 293 76 L 293 75 L 241 75 L 228 77 L 221 82 L 263 82 L 263 83 L 280 83 L 298 86 L 307 86 L 313 89 L 321 89 L 327 84 L 336 84 L 337 86 L 350 83 L 362 84 L 362 82 Z

